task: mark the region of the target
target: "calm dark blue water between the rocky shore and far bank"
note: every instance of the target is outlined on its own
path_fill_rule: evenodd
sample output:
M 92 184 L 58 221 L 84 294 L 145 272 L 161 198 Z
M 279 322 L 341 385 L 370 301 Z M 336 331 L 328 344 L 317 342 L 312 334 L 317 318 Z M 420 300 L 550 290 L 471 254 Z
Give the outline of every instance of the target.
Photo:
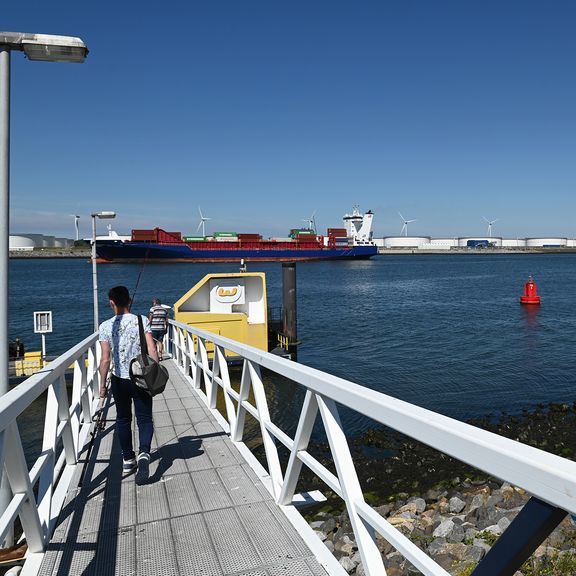
M 281 264 L 266 272 L 268 303 L 281 305 Z M 235 264 L 101 265 L 106 290 L 133 289 L 133 310 L 174 303 L 205 273 Z M 12 260 L 10 335 L 40 349 L 35 310 L 52 310 L 47 353 L 92 332 L 91 266 L 84 260 Z M 533 274 L 540 308 L 520 306 Z M 576 255 L 393 256 L 297 265 L 301 363 L 460 419 L 575 399 Z M 286 411 L 292 420 L 295 413 Z M 350 432 L 369 423 L 345 414 Z

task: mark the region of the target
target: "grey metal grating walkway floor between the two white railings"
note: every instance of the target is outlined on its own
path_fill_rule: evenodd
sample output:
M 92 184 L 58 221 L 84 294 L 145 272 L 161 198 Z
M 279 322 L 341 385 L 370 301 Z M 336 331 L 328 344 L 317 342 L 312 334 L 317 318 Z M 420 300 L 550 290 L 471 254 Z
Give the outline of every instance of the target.
M 326 576 L 176 364 L 164 364 L 150 482 L 122 475 L 112 403 L 40 574 Z

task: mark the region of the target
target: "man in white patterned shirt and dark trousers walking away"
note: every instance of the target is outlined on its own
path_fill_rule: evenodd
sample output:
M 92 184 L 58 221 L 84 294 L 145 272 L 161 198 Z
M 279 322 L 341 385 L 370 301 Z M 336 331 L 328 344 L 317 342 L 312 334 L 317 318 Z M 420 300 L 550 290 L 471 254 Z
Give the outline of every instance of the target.
M 138 317 L 130 313 L 130 293 L 125 286 L 115 286 L 108 292 L 114 316 L 100 324 L 100 398 L 107 394 L 106 377 L 112 364 L 110 388 L 116 404 L 118 440 L 122 448 L 123 470 L 133 472 L 137 468 L 136 483 L 144 484 L 150 474 L 150 445 L 154 432 L 152 421 L 152 397 L 130 380 L 130 361 L 140 354 Z M 146 319 L 144 332 L 148 355 L 158 360 L 156 347 Z M 132 445 L 132 404 L 138 422 L 140 442 L 138 460 Z

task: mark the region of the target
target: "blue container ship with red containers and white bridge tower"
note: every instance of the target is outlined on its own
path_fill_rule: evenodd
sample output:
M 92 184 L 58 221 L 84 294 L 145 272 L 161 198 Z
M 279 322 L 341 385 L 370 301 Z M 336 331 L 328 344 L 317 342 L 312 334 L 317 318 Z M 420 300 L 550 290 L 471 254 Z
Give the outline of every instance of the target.
M 96 240 L 100 262 L 278 262 L 293 260 L 353 260 L 371 258 L 372 211 L 355 207 L 343 218 L 343 228 L 328 228 L 326 236 L 314 228 L 298 228 L 286 238 L 264 239 L 260 234 L 215 232 L 212 236 L 182 236 L 161 228 L 132 230 L 122 237 Z

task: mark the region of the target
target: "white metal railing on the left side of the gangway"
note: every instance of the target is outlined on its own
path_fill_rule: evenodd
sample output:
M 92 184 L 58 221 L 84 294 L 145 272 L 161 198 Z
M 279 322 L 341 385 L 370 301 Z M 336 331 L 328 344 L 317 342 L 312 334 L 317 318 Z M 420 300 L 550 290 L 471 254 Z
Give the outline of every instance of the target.
M 5 472 L 12 492 L 6 510 L 0 511 L 0 542 L 20 517 L 28 544 L 27 567 L 39 565 L 92 427 L 99 403 L 97 340 L 98 334 L 92 334 L 0 397 L 0 472 Z M 70 366 L 74 373 L 69 402 L 65 373 Z M 42 452 L 28 470 L 16 419 L 44 392 Z

